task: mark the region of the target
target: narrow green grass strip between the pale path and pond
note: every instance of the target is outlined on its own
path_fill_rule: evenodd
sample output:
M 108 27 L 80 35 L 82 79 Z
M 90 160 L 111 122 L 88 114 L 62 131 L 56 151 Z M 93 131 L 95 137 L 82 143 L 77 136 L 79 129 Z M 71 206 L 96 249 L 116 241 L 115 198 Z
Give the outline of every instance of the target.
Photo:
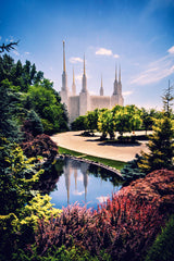
M 69 150 L 62 147 L 59 147 L 59 153 L 60 154 L 71 154 L 74 157 L 79 157 L 79 158 L 84 158 L 94 162 L 100 162 L 103 163 L 104 165 L 109 165 L 112 166 L 116 170 L 122 170 L 123 166 L 126 164 L 126 162 L 124 161 L 114 161 L 114 160 L 109 160 L 109 159 L 104 159 L 104 158 L 99 158 L 99 157 L 94 157 L 94 156 L 89 156 L 89 154 L 83 154 L 80 152 L 74 151 L 74 150 Z

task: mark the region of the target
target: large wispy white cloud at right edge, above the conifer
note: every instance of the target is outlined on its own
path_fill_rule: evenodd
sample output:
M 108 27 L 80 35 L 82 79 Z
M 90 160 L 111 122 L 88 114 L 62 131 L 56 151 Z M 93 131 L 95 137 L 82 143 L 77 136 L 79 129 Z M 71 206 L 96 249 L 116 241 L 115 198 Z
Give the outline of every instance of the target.
M 174 47 L 170 48 L 167 52 L 174 53 Z M 148 85 L 158 83 L 159 80 L 170 76 L 174 73 L 174 57 L 165 55 L 147 65 L 147 70 L 130 79 L 130 84 Z

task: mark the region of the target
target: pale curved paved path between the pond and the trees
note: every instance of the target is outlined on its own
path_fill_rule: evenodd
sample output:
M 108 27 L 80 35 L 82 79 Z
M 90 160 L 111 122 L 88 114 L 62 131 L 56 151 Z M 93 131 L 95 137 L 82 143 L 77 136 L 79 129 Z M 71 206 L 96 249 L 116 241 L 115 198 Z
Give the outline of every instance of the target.
M 61 133 L 51 136 L 51 138 L 58 146 L 70 150 L 125 162 L 133 160 L 135 154 L 140 153 L 141 150 L 148 151 L 146 141 L 140 142 L 139 146 L 114 145 L 100 141 L 98 140 L 99 137 L 83 137 L 79 135 L 80 133 L 82 132 Z M 138 134 L 138 132 L 136 134 Z

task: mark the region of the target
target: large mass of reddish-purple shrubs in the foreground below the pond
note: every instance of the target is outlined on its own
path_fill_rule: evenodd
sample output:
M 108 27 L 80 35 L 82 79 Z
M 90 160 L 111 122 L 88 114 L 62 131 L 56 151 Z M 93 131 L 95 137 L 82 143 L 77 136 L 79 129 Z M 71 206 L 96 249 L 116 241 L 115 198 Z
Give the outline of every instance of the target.
M 121 189 L 97 211 L 72 206 L 57 219 L 40 220 L 35 244 L 27 247 L 25 256 L 28 260 L 51 260 L 55 249 L 65 246 L 99 260 L 104 251 L 112 260 L 139 261 L 174 212 L 173 199 L 174 172 L 156 171 Z

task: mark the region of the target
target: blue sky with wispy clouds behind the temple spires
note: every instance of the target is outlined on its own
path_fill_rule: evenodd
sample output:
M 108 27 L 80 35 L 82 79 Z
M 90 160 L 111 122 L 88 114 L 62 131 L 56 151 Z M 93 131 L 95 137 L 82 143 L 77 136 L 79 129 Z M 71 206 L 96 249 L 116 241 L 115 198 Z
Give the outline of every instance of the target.
M 1 0 L 0 45 L 20 40 L 10 55 L 29 60 L 60 91 L 63 40 L 67 85 L 73 69 L 82 89 L 83 59 L 87 87 L 113 92 L 121 66 L 124 104 L 162 108 L 174 85 L 174 0 Z

